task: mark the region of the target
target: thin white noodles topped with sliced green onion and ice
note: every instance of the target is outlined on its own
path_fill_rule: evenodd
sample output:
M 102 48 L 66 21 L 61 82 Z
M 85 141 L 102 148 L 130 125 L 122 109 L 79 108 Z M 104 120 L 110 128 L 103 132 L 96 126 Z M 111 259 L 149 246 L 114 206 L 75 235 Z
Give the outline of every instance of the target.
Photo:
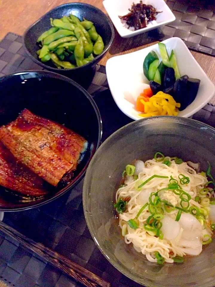
M 145 163 L 127 165 L 123 182 L 114 205 L 122 236 L 150 262 L 182 262 L 211 242 L 215 183 L 210 165 L 207 174 L 198 173 L 182 159 L 157 152 Z

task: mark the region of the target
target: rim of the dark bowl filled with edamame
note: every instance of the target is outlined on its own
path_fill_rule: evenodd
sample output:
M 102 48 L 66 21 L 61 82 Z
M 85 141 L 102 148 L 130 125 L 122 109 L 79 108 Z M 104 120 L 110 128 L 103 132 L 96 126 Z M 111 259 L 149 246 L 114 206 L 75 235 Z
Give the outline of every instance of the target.
M 73 69 L 58 69 L 58 68 L 53 68 L 53 67 L 50 67 L 48 65 L 45 65 L 43 62 L 39 61 L 37 58 L 34 58 L 32 56 L 32 54 L 29 52 L 29 50 L 27 49 L 26 45 L 25 45 L 25 39 L 26 39 L 26 35 L 28 33 L 28 31 L 34 26 L 36 25 L 38 22 L 42 21 L 43 18 L 50 12 L 54 11 L 54 10 L 57 10 L 58 8 L 60 7 L 64 7 L 64 6 L 73 6 L 73 5 L 81 5 L 81 6 L 87 6 L 87 7 L 91 7 L 93 9 L 95 9 L 96 11 L 99 11 L 100 13 L 103 14 L 103 16 L 105 17 L 105 19 L 107 20 L 108 24 L 109 24 L 109 27 L 110 27 L 110 30 L 111 30 L 111 38 L 110 38 L 110 42 L 108 43 L 107 47 L 102 51 L 101 54 L 97 55 L 93 61 L 85 64 L 85 65 L 82 65 L 80 67 L 76 67 L 76 68 L 73 68 Z M 22 40 L 22 43 L 23 43 L 23 47 L 24 47 L 24 50 L 25 52 L 27 53 L 27 55 L 38 65 L 42 66 L 43 68 L 45 69 L 48 69 L 48 70 L 52 70 L 52 71 L 55 71 L 56 73 L 61 70 L 61 71 L 77 71 L 79 70 L 80 68 L 90 68 L 91 66 L 93 66 L 93 64 L 96 64 L 98 62 L 98 60 L 100 60 L 103 55 L 108 51 L 108 49 L 110 48 L 110 45 L 112 44 L 113 42 L 113 39 L 114 39 L 114 36 L 115 36 L 115 33 L 114 33 L 114 28 L 113 28 L 113 24 L 112 22 L 110 21 L 110 19 L 108 18 L 107 15 L 105 15 L 105 13 L 100 10 L 99 8 L 91 5 L 91 4 L 87 4 L 87 3 L 82 3 L 82 2 L 72 2 L 72 3 L 66 3 L 66 4 L 62 4 L 62 5 L 59 5 L 59 6 L 56 6 L 54 7 L 53 9 L 49 10 L 47 13 L 45 13 L 44 15 L 42 15 L 38 20 L 36 20 L 33 24 L 31 24 L 24 32 L 24 35 L 23 35 L 23 40 Z M 35 42 L 36 43 L 36 42 Z

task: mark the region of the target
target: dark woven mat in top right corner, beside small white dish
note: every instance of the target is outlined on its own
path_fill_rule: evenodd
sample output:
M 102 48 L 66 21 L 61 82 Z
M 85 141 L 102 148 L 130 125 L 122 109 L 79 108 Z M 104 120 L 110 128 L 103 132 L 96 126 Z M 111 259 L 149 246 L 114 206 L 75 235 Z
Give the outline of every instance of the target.
M 179 37 L 184 40 L 188 48 L 215 56 L 214 0 L 167 0 L 166 2 L 176 20 L 164 26 L 157 35 L 152 32 L 150 36 L 155 36 L 159 40 Z

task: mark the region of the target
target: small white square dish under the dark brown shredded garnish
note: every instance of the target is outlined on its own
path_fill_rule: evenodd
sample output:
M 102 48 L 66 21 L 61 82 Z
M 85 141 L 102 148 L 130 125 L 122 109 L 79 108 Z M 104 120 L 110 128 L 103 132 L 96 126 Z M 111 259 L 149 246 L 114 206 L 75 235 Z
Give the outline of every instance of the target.
M 144 4 L 150 4 L 156 8 L 157 11 L 162 11 L 156 16 L 156 20 L 149 22 L 146 28 L 142 28 L 134 31 L 132 28 L 128 29 L 126 23 L 122 23 L 119 16 L 124 16 L 129 13 L 129 8 L 131 5 L 139 3 L 138 0 L 104 0 L 103 5 L 113 22 L 113 25 L 116 27 L 119 35 L 124 38 L 132 37 L 145 33 L 149 30 L 158 28 L 162 25 L 166 25 L 170 22 L 173 22 L 176 18 L 170 8 L 167 6 L 164 0 L 143 0 Z

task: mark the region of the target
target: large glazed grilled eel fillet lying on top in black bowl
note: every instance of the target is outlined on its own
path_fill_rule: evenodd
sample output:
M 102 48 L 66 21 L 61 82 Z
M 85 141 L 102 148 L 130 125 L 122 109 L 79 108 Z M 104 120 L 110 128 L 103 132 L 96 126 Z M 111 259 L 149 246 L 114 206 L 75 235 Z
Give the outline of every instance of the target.
M 1 126 L 0 139 L 19 161 L 54 186 L 76 169 L 87 146 L 82 136 L 27 109 Z

